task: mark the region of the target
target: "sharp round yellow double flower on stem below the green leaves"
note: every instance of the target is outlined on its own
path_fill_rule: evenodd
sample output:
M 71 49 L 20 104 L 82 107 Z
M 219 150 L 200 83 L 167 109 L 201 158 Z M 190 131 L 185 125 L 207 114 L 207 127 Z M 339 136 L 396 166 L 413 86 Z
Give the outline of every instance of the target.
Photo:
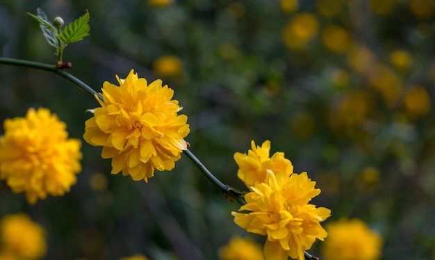
M 172 170 L 190 129 L 188 117 L 178 115 L 181 107 L 172 100 L 174 90 L 162 81 L 150 84 L 133 70 L 120 86 L 104 82 L 101 107 L 85 122 L 83 138 L 102 146 L 101 156 L 112 159 L 112 174 L 122 171 L 135 181 L 154 176 L 154 170 Z

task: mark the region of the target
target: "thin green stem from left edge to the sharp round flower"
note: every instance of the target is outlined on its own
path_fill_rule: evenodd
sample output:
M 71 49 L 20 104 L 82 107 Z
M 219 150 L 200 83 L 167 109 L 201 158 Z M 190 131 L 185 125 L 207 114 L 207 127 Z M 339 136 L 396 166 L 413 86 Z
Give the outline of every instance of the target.
M 59 76 L 66 79 L 67 81 L 73 83 L 76 87 L 83 90 L 86 94 L 90 95 L 91 97 L 95 97 L 95 95 L 97 95 L 99 99 L 101 100 L 103 99 L 103 97 L 101 97 L 101 95 L 99 95 L 97 91 L 90 88 L 90 86 L 83 83 L 83 81 L 77 79 L 75 76 L 72 76 L 72 74 L 65 72 L 65 70 L 59 70 L 54 65 L 49 65 L 45 63 L 35 63 L 34 61 L 30 61 L 30 60 L 18 60 L 15 58 L 3 58 L 3 57 L 0 57 L 0 64 L 13 65 L 19 67 L 29 67 L 37 70 L 44 70 L 46 72 L 53 72 L 54 74 L 58 74 Z

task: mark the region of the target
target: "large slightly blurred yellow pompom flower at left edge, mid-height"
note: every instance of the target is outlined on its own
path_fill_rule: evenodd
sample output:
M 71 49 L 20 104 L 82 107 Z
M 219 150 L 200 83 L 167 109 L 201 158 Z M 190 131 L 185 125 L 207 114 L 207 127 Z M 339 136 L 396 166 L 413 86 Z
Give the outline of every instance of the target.
M 0 140 L 0 179 L 29 203 L 63 195 L 81 171 L 81 142 L 68 139 L 66 124 L 45 108 L 4 122 Z

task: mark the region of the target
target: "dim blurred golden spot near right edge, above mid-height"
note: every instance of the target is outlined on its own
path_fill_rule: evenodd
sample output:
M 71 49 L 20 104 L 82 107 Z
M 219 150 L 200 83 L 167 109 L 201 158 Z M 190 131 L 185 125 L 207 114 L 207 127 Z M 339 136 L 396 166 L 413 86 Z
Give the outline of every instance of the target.
M 430 109 L 430 97 L 425 88 L 413 86 L 404 97 L 404 104 L 409 113 L 417 117 L 426 115 Z

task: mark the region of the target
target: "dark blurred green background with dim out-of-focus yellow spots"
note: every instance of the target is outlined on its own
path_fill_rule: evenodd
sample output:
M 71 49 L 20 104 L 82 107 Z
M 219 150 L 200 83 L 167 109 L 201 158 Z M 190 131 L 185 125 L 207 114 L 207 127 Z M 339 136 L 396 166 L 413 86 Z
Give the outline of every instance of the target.
M 235 152 L 271 140 L 317 181 L 329 221 L 368 222 L 382 259 L 435 259 L 435 1 L 157 2 L 1 0 L 1 56 L 54 64 L 26 12 L 68 24 L 88 10 L 69 73 L 95 90 L 131 69 L 163 79 L 188 115 L 190 150 L 225 184 L 243 188 Z M 98 104 L 54 74 L 0 65 L 1 122 L 40 106 L 81 138 Z M 186 156 L 146 184 L 111 175 L 101 147 L 82 151 L 63 197 L 30 206 L 0 189 L 0 216 L 24 211 L 47 229 L 46 259 L 217 259 L 247 236 L 230 214 L 239 205 Z M 309 252 L 321 257 L 319 245 Z

